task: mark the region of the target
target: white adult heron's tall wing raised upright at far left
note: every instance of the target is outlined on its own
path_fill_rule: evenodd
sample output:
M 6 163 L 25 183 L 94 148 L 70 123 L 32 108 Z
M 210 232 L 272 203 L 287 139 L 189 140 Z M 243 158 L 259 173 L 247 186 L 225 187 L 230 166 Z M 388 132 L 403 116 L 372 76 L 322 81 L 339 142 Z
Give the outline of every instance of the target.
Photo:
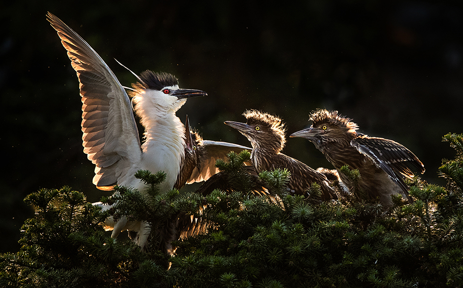
M 77 73 L 82 96 L 84 152 L 96 165 L 93 183 L 110 190 L 132 173 L 141 159 L 141 145 L 132 105 L 114 73 L 76 32 L 52 13 L 47 15 Z

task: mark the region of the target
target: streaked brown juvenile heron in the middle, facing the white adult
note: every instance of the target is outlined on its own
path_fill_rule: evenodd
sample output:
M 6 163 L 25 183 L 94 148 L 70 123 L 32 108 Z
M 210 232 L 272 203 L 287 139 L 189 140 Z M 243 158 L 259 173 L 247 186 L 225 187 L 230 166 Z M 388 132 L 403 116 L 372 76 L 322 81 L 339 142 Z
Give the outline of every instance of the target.
M 246 111 L 243 115 L 247 119 L 246 123 L 225 121 L 225 124 L 237 129 L 251 142 L 251 160 L 257 173 L 287 168 L 291 172 L 288 182 L 291 193 L 304 195 L 307 188 L 316 182 L 321 187 L 323 200 L 337 199 L 325 175 L 281 153 L 286 139 L 280 118 L 257 110 Z

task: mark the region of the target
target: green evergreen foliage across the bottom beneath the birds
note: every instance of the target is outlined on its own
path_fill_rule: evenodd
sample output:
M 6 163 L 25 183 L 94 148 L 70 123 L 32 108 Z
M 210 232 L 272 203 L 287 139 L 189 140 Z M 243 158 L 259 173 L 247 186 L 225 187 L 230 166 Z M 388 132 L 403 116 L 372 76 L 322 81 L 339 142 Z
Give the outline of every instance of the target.
M 131 241 L 111 239 L 99 225 L 108 213 L 81 193 L 40 190 L 26 198 L 36 214 L 23 225 L 21 250 L 0 257 L 0 286 L 461 287 L 463 135 L 443 139 L 456 150 L 438 170 L 447 186 L 416 177 L 408 182 L 414 203 L 393 196 L 387 211 L 349 193 L 320 203 L 316 185 L 308 198 L 289 195 L 287 170 L 259 175 L 278 201 L 254 195 L 242 169 L 245 152 L 217 163 L 230 174 L 227 192 L 161 192 L 162 172 L 139 171 L 150 189 L 117 187 L 105 199 L 115 203 L 113 217 L 148 221 L 153 230 L 179 213 L 211 223 L 206 233 L 175 241 L 171 258 L 155 249 L 155 238 L 145 253 Z

